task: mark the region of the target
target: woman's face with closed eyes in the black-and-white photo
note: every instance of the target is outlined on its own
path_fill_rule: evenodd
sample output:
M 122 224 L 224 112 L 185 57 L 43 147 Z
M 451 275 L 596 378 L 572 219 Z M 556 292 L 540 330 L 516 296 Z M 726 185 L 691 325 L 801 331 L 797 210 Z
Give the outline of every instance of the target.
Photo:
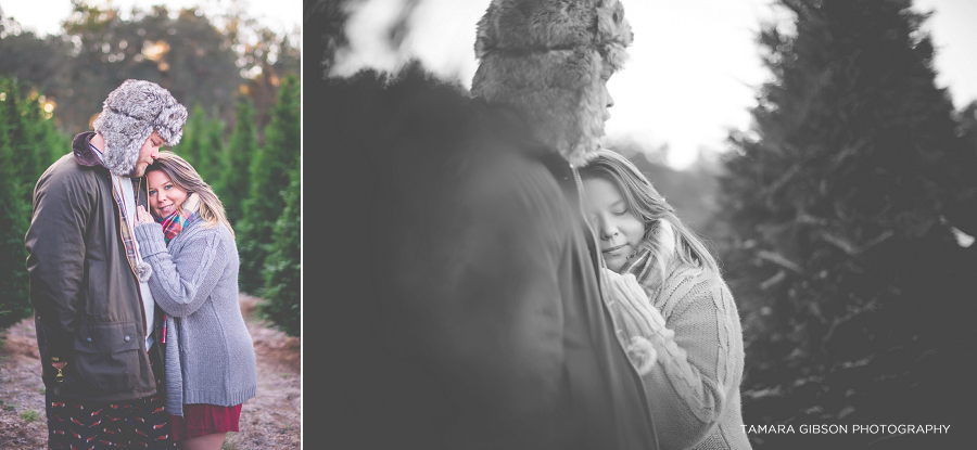
M 591 223 L 597 230 L 607 267 L 620 272 L 645 235 L 645 223 L 627 208 L 617 185 L 602 178 L 583 181 Z

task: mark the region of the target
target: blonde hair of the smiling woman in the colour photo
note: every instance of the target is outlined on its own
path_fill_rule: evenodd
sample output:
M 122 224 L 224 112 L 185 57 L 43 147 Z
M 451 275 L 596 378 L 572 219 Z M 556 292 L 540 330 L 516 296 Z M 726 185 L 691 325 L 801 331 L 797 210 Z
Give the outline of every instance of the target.
M 160 152 L 156 160 L 145 168 L 145 175 L 153 170 L 166 173 L 174 184 L 187 191 L 188 197 L 194 193 L 200 197 L 196 215 L 204 221 L 204 228 L 214 228 L 217 223 L 224 223 L 231 232 L 231 235 L 234 235 L 234 229 L 231 228 L 230 222 L 227 221 L 227 216 L 224 214 L 224 204 L 220 203 L 220 198 L 217 198 L 214 189 L 204 182 L 190 163 L 177 156 L 176 153 L 163 151 Z M 147 194 L 149 194 L 148 184 L 145 189 Z M 180 205 L 180 208 L 182 209 L 182 205 Z

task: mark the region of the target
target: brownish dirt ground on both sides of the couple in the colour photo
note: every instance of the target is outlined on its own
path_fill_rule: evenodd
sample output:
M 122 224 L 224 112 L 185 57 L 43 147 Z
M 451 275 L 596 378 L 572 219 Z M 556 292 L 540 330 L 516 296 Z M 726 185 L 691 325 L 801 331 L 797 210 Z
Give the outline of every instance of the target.
M 224 449 L 299 449 L 300 342 L 252 319 L 256 301 L 241 296 L 241 311 L 257 357 L 257 396 L 244 402 L 241 430 L 228 434 Z M 0 449 L 43 449 L 48 427 L 34 319 L 2 332 L 0 339 L 5 342 L 0 347 Z

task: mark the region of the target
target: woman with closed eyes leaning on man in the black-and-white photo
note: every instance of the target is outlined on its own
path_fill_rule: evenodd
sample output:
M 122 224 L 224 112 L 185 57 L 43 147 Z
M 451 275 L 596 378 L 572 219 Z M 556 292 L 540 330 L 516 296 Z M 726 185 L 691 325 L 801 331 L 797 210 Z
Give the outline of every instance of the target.
M 715 259 L 627 158 L 581 168 L 621 340 L 642 374 L 662 449 L 749 449 L 743 332 Z

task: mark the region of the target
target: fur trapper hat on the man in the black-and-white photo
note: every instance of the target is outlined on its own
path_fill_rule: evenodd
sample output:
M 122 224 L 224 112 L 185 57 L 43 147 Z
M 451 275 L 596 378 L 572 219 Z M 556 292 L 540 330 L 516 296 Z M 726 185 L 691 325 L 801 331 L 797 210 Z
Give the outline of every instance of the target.
M 581 165 L 604 136 L 604 64 L 620 69 L 633 38 L 618 0 L 493 0 L 471 92 L 519 108 L 537 139 Z

